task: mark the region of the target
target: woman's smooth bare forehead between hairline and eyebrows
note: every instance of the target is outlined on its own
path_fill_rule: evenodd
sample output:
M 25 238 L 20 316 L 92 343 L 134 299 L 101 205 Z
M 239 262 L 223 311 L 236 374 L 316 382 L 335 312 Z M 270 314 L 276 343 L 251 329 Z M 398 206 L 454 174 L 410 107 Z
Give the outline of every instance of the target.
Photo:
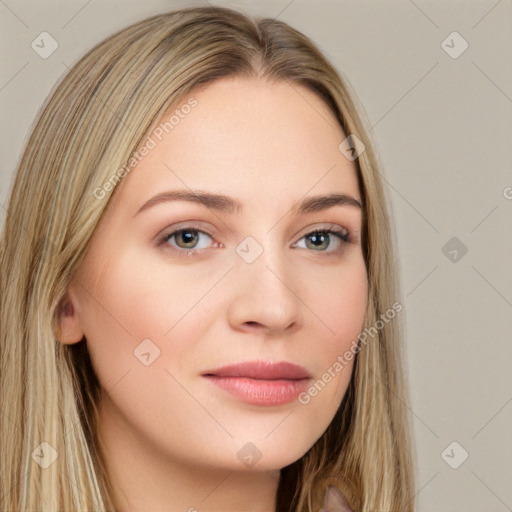
M 354 163 L 338 150 L 346 135 L 327 105 L 297 84 L 218 80 L 170 108 L 147 137 L 153 147 L 119 191 L 134 207 L 177 188 L 259 204 L 263 196 L 294 202 L 308 191 L 360 199 Z

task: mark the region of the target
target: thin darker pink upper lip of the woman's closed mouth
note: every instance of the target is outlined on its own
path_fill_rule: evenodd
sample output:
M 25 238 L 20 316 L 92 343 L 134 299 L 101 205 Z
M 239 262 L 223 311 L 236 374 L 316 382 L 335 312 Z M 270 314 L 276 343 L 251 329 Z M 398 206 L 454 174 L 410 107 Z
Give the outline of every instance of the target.
M 205 377 L 245 377 L 248 379 L 309 379 L 311 375 L 302 366 L 288 362 L 246 361 L 221 366 L 203 373 Z

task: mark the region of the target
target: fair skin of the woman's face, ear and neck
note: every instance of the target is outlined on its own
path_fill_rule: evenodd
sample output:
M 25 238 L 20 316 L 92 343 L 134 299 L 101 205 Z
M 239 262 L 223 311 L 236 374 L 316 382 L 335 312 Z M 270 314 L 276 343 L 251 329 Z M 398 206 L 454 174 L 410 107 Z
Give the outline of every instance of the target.
M 228 78 L 193 96 L 198 105 L 116 189 L 69 286 L 59 339 L 87 340 L 120 512 L 268 512 L 279 470 L 327 429 L 353 361 L 307 405 L 247 404 L 201 374 L 290 361 L 315 382 L 349 349 L 367 300 L 361 209 L 299 215 L 296 205 L 361 195 L 354 163 L 338 150 L 346 135 L 309 90 Z M 243 208 L 172 201 L 136 215 L 175 189 L 225 194 Z M 306 236 L 331 226 L 349 241 L 330 235 L 317 248 Z M 187 239 L 160 243 L 183 227 L 211 234 L 192 232 L 198 249 L 190 256 L 179 254 L 190 250 Z M 248 236 L 263 249 L 252 263 L 236 252 Z M 145 339 L 160 350 L 148 366 L 134 356 Z M 237 457 L 248 442 L 262 454 L 251 467 Z

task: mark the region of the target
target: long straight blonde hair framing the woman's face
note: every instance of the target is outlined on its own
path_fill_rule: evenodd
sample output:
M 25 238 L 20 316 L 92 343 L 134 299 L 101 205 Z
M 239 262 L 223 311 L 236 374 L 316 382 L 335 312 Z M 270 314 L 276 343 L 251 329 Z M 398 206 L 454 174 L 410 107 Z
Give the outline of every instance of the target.
M 307 37 L 279 21 L 213 7 L 157 15 L 118 32 L 89 51 L 47 101 L 8 205 L 0 246 L 2 510 L 115 510 L 96 437 L 99 383 L 85 343 L 56 340 L 56 316 L 115 190 L 103 187 L 99 199 L 98 187 L 170 106 L 227 76 L 307 87 L 345 134 L 364 143 L 354 162 L 369 283 L 364 327 L 374 328 L 399 300 L 386 199 L 360 107 Z M 282 469 L 278 512 L 316 512 L 328 483 L 356 511 L 414 509 L 401 320 L 381 323 L 359 347 L 329 428 Z M 36 459 L 43 455 L 56 460 L 42 467 Z

